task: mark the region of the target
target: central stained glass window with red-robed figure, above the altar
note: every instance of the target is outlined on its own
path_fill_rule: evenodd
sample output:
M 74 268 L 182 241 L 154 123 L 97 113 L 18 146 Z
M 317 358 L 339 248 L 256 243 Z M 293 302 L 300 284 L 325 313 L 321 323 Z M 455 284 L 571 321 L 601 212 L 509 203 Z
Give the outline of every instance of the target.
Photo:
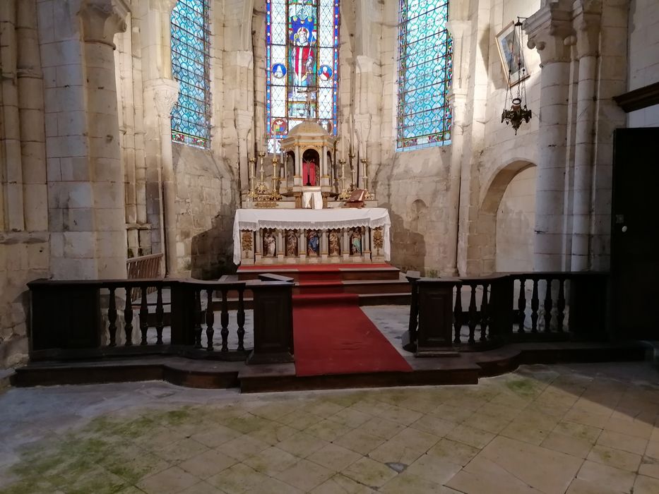
M 310 114 L 336 135 L 338 0 L 266 0 L 268 150 Z

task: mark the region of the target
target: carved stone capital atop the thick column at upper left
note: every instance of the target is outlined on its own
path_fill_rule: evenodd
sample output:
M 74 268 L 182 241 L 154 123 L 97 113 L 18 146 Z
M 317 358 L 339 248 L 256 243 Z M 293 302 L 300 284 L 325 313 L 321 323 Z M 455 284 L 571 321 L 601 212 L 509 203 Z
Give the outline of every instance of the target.
M 83 0 L 78 11 L 83 21 L 83 40 L 114 49 L 114 35 L 126 30 L 125 19 L 130 11 L 126 0 Z

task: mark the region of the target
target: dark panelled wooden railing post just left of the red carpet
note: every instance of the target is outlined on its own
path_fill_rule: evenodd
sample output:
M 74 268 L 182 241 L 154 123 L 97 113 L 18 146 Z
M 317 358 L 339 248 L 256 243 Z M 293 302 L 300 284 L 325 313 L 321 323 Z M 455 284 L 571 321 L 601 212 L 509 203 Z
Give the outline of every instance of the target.
M 293 354 L 293 279 L 263 275 L 247 286 L 254 293 L 254 350 L 247 363 L 286 363 Z M 280 281 L 281 280 L 281 281 Z

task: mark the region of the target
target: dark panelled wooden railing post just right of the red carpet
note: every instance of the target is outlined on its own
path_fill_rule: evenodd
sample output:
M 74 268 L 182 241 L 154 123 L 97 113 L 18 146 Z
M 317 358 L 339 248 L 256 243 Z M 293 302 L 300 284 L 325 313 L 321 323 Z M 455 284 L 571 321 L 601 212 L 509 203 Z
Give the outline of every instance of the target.
M 460 280 L 419 279 L 419 329 L 416 356 L 452 356 L 453 288 Z

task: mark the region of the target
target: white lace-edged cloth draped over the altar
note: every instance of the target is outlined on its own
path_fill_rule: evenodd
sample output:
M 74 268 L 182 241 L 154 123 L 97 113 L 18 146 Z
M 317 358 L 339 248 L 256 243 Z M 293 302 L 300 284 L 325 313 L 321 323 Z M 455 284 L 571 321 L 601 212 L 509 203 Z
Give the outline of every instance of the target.
M 333 229 L 350 227 L 382 227 L 384 258 L 391 259 L 389 212 L 384 207 L 336 207 L 324 210 L 249 209 L 236 210 L 233 222 L 233 262 L 240 264 L 240 231 L 261 228 Z

